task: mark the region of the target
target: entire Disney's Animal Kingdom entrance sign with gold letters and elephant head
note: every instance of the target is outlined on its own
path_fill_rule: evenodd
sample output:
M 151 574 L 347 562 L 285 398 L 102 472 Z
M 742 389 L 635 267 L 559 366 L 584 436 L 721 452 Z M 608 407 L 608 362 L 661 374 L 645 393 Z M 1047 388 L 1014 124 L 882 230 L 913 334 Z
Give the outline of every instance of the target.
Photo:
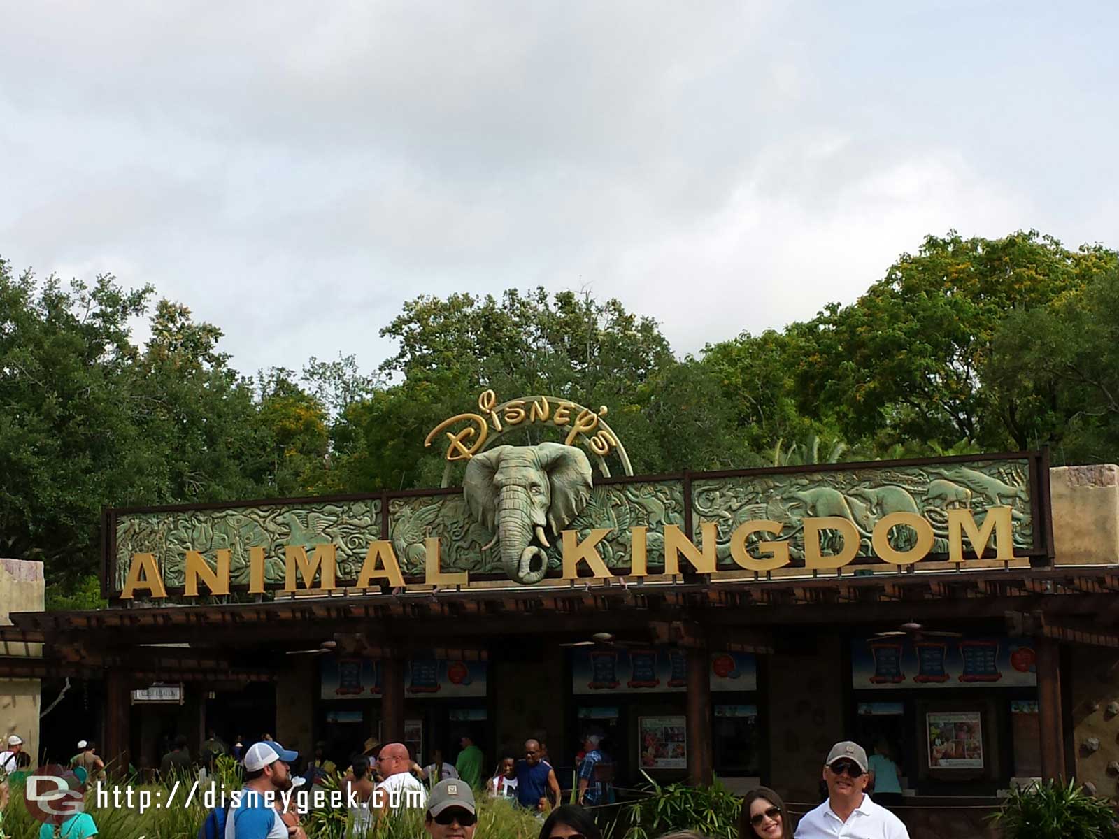
M 487 392 L 480 413 L 429 436 L 444 435 L 445 456 L 464 461 L 461 492 L 109 510 L 106 596 L 749 579 L 934 562 L 952 572 L 1052 555 L 1040 453 L 610 478 L 608 455 L 627 472 L 629 461 L 604 413 L 554 397 L 496 398 Z M 529 423 L 571 426 L 572 444 L 488 445 Z

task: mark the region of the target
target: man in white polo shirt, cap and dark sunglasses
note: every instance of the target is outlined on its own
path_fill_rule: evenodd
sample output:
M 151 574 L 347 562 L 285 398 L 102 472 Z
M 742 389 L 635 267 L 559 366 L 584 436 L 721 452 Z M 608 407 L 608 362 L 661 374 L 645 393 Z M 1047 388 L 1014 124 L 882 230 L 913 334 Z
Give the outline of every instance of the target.
M 836 743 L 824 764 L 828 800 L 807 813 L 796 839 L 909 839 L 901 819 L 871 801 L 866 752 L 857 743 Z

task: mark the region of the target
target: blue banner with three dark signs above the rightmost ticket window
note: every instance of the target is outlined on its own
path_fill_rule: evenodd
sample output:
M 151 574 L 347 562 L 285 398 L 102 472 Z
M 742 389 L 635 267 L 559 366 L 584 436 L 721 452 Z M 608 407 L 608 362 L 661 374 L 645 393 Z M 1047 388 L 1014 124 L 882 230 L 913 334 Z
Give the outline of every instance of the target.
M 855 690 L 1036 687 L 1028 638 L 892 635 L 852 641 Z

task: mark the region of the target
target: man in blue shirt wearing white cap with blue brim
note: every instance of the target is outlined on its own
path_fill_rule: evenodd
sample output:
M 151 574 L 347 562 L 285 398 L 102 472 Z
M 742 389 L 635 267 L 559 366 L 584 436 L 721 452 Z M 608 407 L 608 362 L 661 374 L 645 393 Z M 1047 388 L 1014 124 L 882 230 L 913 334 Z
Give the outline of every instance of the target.
M 289 829 L 275 802 L 291 789 L 291 764 L 298 752 L 275 741 L 254 743 L 245 752 L 245 789 L 225 820 L 225 839 L 307 839 L 300 827 Z M 271 793 L 271 794 L 270 794 Z

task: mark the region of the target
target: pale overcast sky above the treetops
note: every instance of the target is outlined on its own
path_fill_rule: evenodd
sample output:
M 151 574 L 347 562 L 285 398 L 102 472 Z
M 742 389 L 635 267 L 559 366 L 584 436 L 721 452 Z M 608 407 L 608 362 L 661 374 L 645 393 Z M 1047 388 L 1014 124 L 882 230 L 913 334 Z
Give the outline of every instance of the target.
M 927 233 L 1119 246 L 1119 3 L 0 0 L 0 255 L 244 373 L 417 294 L 618 296 L 678 352 Z

